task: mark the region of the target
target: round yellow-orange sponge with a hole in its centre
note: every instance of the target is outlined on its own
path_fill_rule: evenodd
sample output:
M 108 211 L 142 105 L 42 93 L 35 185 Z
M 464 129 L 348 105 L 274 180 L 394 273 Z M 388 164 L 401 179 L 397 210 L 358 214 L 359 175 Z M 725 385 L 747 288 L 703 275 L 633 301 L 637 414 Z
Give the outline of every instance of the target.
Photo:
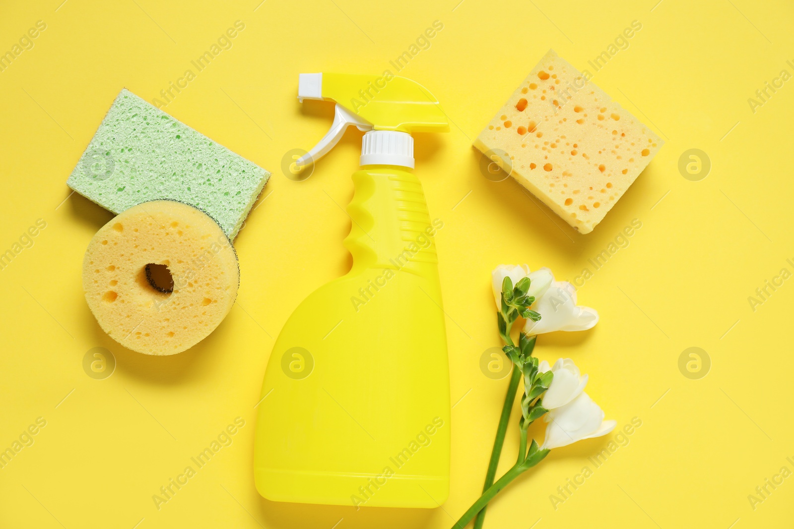
M 173 291 L 149 282 L 148 264 L 168 266 Z M 134 205 L 94 235 L 83 289 L 102 330 L 133 351 L 174 355 L 206 338 L 231 309 L 237 255 L 218 224 L 191 205 Z

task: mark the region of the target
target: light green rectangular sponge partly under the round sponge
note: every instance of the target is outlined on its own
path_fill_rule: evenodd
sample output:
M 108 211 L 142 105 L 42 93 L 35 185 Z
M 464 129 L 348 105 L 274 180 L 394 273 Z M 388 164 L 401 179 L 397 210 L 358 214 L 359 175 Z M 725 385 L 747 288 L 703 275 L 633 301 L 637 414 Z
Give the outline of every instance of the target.
M 113 213 L 172 199 L 233 239 L 270 173 L 122 89 L 67 185 Z

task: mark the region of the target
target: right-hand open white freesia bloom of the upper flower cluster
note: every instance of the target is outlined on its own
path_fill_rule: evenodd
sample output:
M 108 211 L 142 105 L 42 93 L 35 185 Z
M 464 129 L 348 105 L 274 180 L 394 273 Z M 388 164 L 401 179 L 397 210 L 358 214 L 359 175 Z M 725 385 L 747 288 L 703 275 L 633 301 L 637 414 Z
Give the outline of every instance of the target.
M 576 289 L 567 281 L 554 281 L 530 309 L 540 321 L 526 320 L 524 332 L 539 335 L 554 331 L 587 331 L 598 323 L 598 312 L 576 305 Z

